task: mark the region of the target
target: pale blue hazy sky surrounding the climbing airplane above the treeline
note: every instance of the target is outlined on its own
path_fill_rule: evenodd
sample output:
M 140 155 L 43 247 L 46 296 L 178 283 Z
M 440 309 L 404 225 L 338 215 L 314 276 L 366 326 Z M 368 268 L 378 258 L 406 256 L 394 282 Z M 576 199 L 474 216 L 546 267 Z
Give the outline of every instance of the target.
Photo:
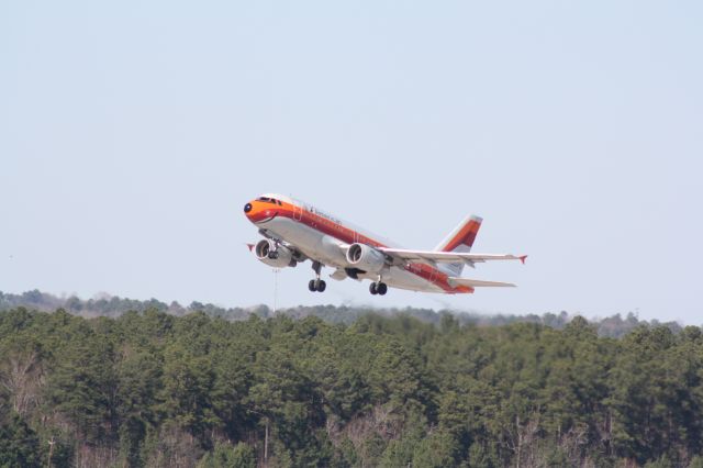
M 409 248 L 466 214 L 472 296 L 278 275 L 278 304 L 703 323 L 700 1 L 0 0 L 0 290 L 272 304 L 263 192 Z M 327 270 L 327 274 L 332 272 Z

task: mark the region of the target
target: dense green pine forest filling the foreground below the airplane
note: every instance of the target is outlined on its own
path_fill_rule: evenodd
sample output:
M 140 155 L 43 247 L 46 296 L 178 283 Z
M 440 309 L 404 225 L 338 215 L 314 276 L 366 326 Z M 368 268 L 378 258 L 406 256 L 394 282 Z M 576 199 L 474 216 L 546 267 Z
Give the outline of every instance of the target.
M 0 466 L 702 465 L 699 327 L 142 305 L 0 313 Z

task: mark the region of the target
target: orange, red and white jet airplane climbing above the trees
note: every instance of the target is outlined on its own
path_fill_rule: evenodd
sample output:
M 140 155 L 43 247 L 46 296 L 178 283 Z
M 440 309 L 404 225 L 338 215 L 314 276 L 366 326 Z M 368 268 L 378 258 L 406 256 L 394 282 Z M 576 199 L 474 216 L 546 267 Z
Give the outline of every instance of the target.
M 244 214 L 265 238 L 247 244 L 257 259 L 274 268 L 312 260 L 310 291 L 323 292 L 322 267 L 334 268 L 335 280 L 370 279 L 369 292 L 388 288 L 447 294 L 472 293 L 480 287 L 514 287 L 510 282 L 461 278 L 464 266 L 491 260 L 520 260 L 526 255 L 472 254 L 482 219 L 467 216 L 433 250 L 409 250 L 366 232 L 311 204 L 265 193 L 244 205 Z

